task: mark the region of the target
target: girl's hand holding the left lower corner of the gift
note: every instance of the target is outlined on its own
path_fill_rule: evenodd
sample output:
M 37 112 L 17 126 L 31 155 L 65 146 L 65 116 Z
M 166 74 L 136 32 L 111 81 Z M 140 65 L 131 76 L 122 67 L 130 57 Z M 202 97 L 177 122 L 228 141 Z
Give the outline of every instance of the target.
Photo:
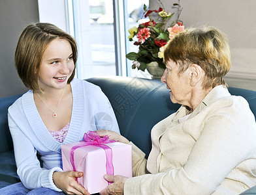
M 56 187 L 66 194 L 89 195 L 89 192 L 76 181 L 76 177 L 82 177 L 82 175 L 83 172 L 54 172 L 52 178 Z

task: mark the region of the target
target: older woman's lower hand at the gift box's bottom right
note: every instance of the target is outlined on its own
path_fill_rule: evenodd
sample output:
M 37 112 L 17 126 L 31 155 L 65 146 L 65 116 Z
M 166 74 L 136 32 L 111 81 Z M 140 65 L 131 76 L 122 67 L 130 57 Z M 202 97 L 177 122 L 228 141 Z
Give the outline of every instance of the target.
M 125 185 L 125 181 L 126 179 L 128 179 L 128 177 L 124 177 L 121 175 L 104 175 L 104 179 L 106 179 L 106 181 L 108 182 L 113 182 L 110 185 L 108 185 L 108 187 L 104 188 L 104 190 L 101 190 L 101 192 L 99 192 L 99 194 L 101 195 L 109 195 L 109 194 L 113 194 L 113 195 L 121 195 L 123 194 L 123 187 Z

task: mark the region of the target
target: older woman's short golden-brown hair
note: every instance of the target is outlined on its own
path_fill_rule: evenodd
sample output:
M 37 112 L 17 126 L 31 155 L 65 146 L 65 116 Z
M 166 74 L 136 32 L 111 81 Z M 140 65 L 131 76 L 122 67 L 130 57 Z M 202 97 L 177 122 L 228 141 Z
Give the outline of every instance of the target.
M 231 68 L 231 53 L 227 36 L 216 27 L 187 28 L 176 34 L 164 51 L 165 62 L 172 60 L 185 72 L 198 64 L 205 72 L 204 88 L 227 86 L 224 76 Z

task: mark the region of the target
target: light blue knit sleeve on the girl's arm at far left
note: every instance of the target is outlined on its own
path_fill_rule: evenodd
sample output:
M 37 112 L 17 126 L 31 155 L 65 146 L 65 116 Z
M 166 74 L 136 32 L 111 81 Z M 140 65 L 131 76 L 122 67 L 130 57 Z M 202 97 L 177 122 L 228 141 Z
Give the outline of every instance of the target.
M 14 143 L 17 174 L 23 185 L 29 189 L 47 187 L 61 192 L 62 190 L 54 184 L 52 174 L 55 171 L 62 171 L 62 169 L 59 167 L 49 170 L 41 168 L 37 158 L 37 150 L 29 138 L 18 128 L 10 114 L 8 114 L 8 125 Z

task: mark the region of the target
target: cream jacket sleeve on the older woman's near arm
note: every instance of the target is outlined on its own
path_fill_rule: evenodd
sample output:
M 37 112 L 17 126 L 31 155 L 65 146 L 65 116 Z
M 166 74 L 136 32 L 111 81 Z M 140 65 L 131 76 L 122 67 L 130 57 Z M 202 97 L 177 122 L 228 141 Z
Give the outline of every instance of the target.
M 129 178 L 124 193 L 212 194 L 238 164 L 255 155 L 255 120 L 244 99 L 208 114 L 202 126 L 182 168 Z

